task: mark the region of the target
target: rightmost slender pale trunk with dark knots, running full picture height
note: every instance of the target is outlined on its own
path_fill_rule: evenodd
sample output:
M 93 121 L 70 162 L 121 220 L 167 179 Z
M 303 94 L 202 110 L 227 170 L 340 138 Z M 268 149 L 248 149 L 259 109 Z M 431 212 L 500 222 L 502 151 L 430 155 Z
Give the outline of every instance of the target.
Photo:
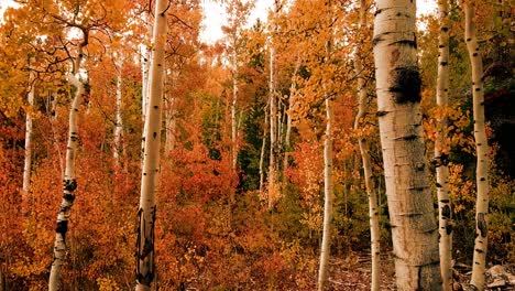
M 474 118 L 475 155 L 478 164 L 475 169 L 475 183 L 478 197 L 475 202 L 475 241 L 472 265 L 472 290 L 484 289 L 484 272 L 486 265 L 487 247 L 487 215 L 489 215 L 489 144 L 484 125 L 484 93 L 483 93 L 483 61 L 475 35 L 474 1 L 464 1 L 465 12 L 465 42 L 472 65 L 472 104 Z

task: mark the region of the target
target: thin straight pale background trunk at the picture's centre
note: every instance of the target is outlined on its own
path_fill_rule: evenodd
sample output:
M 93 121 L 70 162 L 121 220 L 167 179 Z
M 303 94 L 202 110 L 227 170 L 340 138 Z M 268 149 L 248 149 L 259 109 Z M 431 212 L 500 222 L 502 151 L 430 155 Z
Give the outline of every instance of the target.
M 277 157 L 277 106 L 275 98 L 275 79 L 274 79 L 274 58 L 275 50 L 270 46 L 270 84 L 269 84 L 269 103 L 270 103 L 270 161 L 269 161 L 269 209 L 274 206 L 278 198 L 277 173 L 276 173 L 276 157 Z

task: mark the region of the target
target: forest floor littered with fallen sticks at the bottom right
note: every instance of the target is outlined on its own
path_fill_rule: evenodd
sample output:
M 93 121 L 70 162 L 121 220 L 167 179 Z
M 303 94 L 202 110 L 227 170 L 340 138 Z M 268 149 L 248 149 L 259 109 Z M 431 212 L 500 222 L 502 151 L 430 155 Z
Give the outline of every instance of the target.
M 330 290 L 370 290 L 370 256 L 357 255 L 353 259 L 333 259 L 330 261 Z M 395 289 L 395 268 L 391 256 L 381 258 L 381 290 Z M 457 263 L 453 272 L 453 290 L 467 290 L 470 282 L 471 267 Z M 490 291 L 515 290 L 515 263 L 493 266 L 486 271 L 486 288 Z

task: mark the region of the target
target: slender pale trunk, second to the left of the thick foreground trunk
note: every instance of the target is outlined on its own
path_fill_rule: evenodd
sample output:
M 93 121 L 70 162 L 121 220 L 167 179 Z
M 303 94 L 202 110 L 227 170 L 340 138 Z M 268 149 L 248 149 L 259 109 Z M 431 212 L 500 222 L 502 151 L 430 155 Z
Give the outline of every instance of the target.
M 324 141 L 324 230 L 318 269 L 318 290 L 325 290 L 328 278 L 329 255 L 331 251 L 332 224 L 332 101 L 326 98 L 326 139 Z

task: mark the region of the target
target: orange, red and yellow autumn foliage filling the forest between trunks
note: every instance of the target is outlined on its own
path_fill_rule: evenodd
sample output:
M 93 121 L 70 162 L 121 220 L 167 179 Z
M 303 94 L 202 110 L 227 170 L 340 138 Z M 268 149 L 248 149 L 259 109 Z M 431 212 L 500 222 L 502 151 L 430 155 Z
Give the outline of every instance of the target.
M 147 25 L 154 17 L 149 13 L 153 1 L 18 2 L 0 22 L 0 291 L 45 290 L 48 284 L 55 216 L 63 198 L 69 106 L 77 89 L 66 75 L 77 54 L 77 35 L 86 28 L 90 39 L 78 75 L 88 94 L 78 116 L 79 186 L 66 234 L 63 290 L 133 289 L 144 125 L 142 47 L 152 45 Z M 202 1 L 171 1 L 166 12 L 154 282 L 161 290 L 314 290 L 324 217 L 325 98 L 331 98 L 335 111 L 330 270 L 341 272 L 346 263 L 369 263 L 358 259 L 370 256 L 369 207 L 358 147 L 363 137 L 369 141 L 372 180 L 380 198 L 382 251 L 392 249 L 390 230 L 394 226 L 387 219 L 382 173 L 371 28 L 358 28 L 357 1 L 330 1 L 330 6 L 321 0 L 277 1 L 280 10 L 271 10 L 267 20 L 253 23 L 244 15 L 251 11 L 251 6 L 242 4 L 245 1 L 234 1 L 232 12 L 228 8 L 232 1 L 221 2 L 228 13 L 235 14 L 229 23 L 233 26 L 224 28 L 226 39 L 215 44 L 199 37 Z M 484 76 L 492 160 L 487 260 L 506 263 L 515 259 L 515 157 L 509 148 L 513 142 L 506 137 L 513 132 L 513 110 L 505 110 L 513 108 L 513 98 L 508 98 L 514 88 L 509 74 L 513 60 L 508 57 L 513 28 L 506 29 L 506 15 L 513 12 L 506 1 L 476 2 L 482 8 L 476 21 L 484 36 L 483 60 L 490 68 Z M 75 26 L 63 20 L 74 13 Z M 434 174 L 430 160 L 437 120 L 447 119 L 441 151 L 449 166 L 453 256 L 470 265 L 476 194 L 470 66 L 461 40 L 463 15 L 458 8 L 451 14 L 448 107 L 437 107 L 434 101 L 436 18 L 425 17 L 426 29 L 417 32 L 427 140 L 427 157 L 420 160 L 428 161 Z M 490 14 L 498 19 L 492 20 Z M 329 40 L 333 46 L 327 55 Z M 371 101 L 362 127 L 353 129 L 358 110 L 353 54 L 358 44 L 365 54 L 363 77 Z M 275 47 L 278 174 L 276 185 L 267 187 L 271 45 Z M 30 79 L 30 72 L 35 79 Z M 116 160 L 118 77 L 122 80 L 123 129 Z M 232 139 L 234 78 L 237 136 Z M 26 96 L 32 87 L 35 100 L 30 106 Z M 33 148 L 30 200 L 25 203 L 22 179 L 28 112 L 33 116 Z M 265 186 L 260 191 L 261 172 Z M 435 186 L 431 190 L 436 193 Z M 270 195 L 276 197 L 272 207 Z M 24 208 L 29 212 L 23 213 Z M 338 282 L 330 284 L 335 290 L 342 288 Z

